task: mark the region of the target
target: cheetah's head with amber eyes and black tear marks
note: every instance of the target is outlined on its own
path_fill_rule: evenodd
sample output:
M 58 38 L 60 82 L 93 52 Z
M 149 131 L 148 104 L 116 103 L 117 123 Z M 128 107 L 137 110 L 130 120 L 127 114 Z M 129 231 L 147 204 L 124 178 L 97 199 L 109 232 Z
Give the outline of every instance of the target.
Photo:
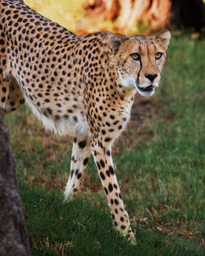
M 117 68 L 121 84 L 137 89 L 143 96 L 154 94 L 161 79 L 160 72 L 170 42 L 169 31 L 156 36 L 111 34 L 112 63 Z

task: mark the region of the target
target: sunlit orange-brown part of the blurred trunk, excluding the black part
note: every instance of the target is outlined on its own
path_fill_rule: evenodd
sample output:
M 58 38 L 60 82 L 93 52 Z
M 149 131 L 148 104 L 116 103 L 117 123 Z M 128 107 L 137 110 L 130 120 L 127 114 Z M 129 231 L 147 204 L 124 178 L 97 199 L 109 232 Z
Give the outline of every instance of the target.
M 125 33 L 142 25 L 148 30 L 162 29 L 171 16 L 171 0 L 87 0 L 89 15 L 111 19 Z

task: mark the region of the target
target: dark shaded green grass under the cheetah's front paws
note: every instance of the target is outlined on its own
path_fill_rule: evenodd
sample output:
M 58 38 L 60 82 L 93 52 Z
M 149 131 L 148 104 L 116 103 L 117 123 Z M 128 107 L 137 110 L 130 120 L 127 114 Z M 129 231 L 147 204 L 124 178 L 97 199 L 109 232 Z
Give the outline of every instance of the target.
M 136 228 L 138 244 L 130 245 L 112 228 L 98 195 L 65 202 L 62 193 L 20 184 L 33 238 L 33 255 L 203 255 L 203 249 L 180 237 Z

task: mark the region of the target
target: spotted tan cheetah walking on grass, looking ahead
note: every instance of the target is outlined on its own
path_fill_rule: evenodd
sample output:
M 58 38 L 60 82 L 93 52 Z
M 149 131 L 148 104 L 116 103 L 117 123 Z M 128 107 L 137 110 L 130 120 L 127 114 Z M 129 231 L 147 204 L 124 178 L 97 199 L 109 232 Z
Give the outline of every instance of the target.
M 7 114 L 26 102 L 45 128 L 73 137 L 66 198 L 80 192 L 93 154 L 113 224 L 133 244 L 112 144 L 130 119 L 134 94 L 155 93 L 170 38 L 169 31 L 77 35 L 23 0 L 0 0 L 0 107 Z

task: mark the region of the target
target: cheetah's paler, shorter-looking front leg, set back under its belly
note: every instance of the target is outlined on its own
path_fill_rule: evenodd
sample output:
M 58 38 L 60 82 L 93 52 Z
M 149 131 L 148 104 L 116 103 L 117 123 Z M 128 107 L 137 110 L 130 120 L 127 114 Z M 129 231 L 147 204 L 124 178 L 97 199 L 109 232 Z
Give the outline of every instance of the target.
M 73 140 L 71 172 L 66 184 L 66 198 L 76 197 L 84 180 L 84 171 L 90 156 L 89 137 L 77 135 Z

